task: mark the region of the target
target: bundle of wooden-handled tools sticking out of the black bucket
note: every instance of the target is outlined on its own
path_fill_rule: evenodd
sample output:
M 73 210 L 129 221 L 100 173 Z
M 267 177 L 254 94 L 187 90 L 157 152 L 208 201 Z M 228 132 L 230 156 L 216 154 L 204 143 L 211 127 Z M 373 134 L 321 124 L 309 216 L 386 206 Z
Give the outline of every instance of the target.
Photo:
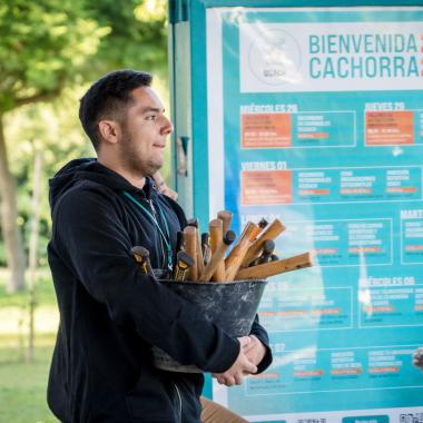
M 173 279 L 228 283 L 239 279 L 265 279 L 281 273 L 312 266 L 309 253 L 278 259 L 274 254 L 274 239 L 285 229 L 275 219 L 268 224 L 248 222 L 239 238 L 230 230 L 232 213 L 219 212 L 217 219 L 210 220 L 209 233 L 199 235 L 198 220 L 190 219 L 184 232 L 178 233 L 174 256 Z M 148 250 L 134 247 L 132 255 L 153 274 L 148 262 Z M 225 257 L 226 256 L 226 257 Z

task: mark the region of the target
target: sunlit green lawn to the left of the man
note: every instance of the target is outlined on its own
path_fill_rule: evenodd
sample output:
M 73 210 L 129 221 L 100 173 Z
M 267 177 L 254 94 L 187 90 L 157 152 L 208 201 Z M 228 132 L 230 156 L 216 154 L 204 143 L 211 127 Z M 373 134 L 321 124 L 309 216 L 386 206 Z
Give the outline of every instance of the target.
M 46 402 L 58 312 L 51 279 L 37 283 L 36 348 L 28 351 L 29 293 L 7 294 L 0 273 L 0 423 L 57 423 Z

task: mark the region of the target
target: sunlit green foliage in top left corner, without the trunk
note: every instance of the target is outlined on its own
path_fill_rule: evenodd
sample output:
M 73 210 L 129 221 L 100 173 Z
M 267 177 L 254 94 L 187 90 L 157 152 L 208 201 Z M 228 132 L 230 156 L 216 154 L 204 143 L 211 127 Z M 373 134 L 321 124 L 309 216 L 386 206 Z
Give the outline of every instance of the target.
M 6 0 L 0 6 L 0 112 L 57 96 L 82 80 L 110 33 L 82 0 Z

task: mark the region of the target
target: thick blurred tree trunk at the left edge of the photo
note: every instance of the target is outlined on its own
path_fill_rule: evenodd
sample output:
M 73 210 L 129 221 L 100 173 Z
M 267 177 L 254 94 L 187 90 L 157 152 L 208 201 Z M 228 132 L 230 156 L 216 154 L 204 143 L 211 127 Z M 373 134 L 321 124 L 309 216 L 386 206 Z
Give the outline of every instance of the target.
M 10 270 L 7 291 L 12 293 L 24 287 L 24 252 L 22 235 L 18 226 L 17 189 L 9 170 L 6 147 L 3 115 L 0 115 L 0 197 L 1 229 L 6 247 L 6 258 Z

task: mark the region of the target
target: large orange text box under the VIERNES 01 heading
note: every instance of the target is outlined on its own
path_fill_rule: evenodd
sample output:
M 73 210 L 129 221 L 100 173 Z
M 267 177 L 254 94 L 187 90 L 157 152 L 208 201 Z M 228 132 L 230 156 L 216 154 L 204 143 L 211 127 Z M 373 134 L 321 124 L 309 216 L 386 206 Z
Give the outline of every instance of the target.
M 291 170 L 245 170 L 240 173 L 240 201 L 245 206 L 293 201 Z

